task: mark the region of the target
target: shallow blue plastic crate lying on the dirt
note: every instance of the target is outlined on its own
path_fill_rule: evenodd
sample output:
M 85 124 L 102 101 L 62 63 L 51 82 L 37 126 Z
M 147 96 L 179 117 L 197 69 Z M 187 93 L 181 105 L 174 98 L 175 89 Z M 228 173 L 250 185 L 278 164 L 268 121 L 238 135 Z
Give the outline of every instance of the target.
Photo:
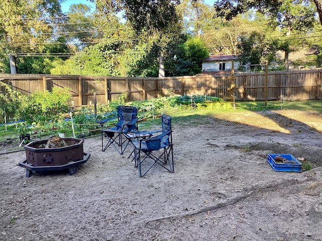
M 276 156 L 281 156 L 282 158 L 296 163 L 276 163 L 274 160 Z M 297 161 L 291 154 L 268 154 L 267 161 L 274 171 L 278 172 L 301 172 L 302 169 L 302 163 Z

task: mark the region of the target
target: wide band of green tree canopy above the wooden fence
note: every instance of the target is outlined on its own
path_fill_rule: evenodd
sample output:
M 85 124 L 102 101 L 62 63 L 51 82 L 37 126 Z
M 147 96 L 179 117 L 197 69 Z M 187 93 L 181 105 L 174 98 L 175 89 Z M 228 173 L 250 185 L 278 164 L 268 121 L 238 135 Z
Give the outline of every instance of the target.
M 95 10 L 66 13 L 63 0 L 1 1 L 0 72 L 155 77 L 197 74 L 215 54 L 254 66 L 279 50 L 285 63 L 301 48 L 320 58 L 319 1 L 89 1 Z

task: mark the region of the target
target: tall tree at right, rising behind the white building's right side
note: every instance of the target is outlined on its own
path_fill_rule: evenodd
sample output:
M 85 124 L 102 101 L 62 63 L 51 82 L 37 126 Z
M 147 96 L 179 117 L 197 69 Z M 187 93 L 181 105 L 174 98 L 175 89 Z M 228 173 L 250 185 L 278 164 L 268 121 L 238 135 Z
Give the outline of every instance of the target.
M 238 13 L 244 13 L 249 8 L 255 8 L 260 13 L 264 13 L 268 17 L 272 29 L 278 27 L 280 33 L 284 35 L 284 37 L 278 37 L 279 47 L 277 49 L 285 53 L 285 69 L 288 69 L 289 53 L 295 51 L 296 46 L 298 46 L 298 41 L 296 41 L 296 38 L 291 38 L 291 34 L 304 35 L 311 31 L 315 22 L 315 8 L 306 0 L 263 1 L 262 5 L 258 6 L 254 6 L 253 1 L 220 0 L 214 4 L 214 8 L 215 16 L 225 17 L 228 20 L 231 20 Z M 275 36 L 275 38 L 277 37 Z M 243 40 L 245 41 L 245 38 Z

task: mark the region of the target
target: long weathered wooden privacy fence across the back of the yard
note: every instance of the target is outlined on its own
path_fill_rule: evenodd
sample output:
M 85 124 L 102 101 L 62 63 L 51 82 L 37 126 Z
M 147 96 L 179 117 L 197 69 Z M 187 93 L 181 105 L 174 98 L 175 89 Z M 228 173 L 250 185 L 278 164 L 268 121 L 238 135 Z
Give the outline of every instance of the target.
M 52 87 L 71 89 L 76 106 L 108 103 L 126 92 L 128 101 L 144 101 L 173 93 L 211 95 L 235 100 L 322 99 L 322 69 L 245 72 L 165 78 L 136 78 L 78 75 L 0 74 L 0 81 L 30 95 Z M 267 96 L 267 97 L 266 97 Z

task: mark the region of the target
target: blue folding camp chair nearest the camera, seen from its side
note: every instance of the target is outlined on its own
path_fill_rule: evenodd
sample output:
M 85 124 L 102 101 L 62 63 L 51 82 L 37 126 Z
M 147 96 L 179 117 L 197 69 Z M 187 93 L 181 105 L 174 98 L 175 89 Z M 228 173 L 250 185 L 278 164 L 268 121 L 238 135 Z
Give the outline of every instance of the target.
M 134 146 L 135 163 L 140 177 L 143 177 L 155 164 L 164 167 L 169 172 L 175 171 L 171 116 L 162 115 L 161 134 L 149 139 L 133 141 L 132 143 Z

